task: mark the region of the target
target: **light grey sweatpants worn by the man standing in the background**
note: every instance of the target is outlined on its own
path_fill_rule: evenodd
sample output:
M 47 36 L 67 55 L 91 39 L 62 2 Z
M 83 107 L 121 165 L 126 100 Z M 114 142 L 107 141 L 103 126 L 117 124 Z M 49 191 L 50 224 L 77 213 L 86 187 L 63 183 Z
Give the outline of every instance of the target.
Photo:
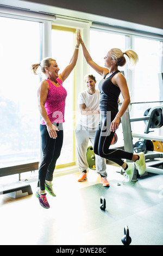
M 77 155 L 78 155 L 78 165 L 80 172 L 89 168 L 86 160 L 86 151 L 89 140 L 91 144 L 94 144 L 96 130 L 80 130 L 80 125 L 76 126 L 76 144 L 77 144 Z M 107 176 L 106 173 L 106 160 L 101 156 L 95 155 L 95 165 L 97 173 L 101 174 L 103 177 Z

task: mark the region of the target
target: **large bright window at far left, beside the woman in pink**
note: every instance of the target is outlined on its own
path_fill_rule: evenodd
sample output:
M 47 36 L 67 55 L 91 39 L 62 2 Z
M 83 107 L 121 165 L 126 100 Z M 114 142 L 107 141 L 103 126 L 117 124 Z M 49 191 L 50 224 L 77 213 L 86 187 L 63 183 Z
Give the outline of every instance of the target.
M 0 17 L 0 167 L 39 161 L 40 23 Z

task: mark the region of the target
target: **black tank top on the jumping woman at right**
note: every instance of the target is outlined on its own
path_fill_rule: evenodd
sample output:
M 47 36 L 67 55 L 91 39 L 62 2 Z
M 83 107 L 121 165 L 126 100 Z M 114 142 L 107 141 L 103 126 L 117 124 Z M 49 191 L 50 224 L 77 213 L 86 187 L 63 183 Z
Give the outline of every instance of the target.
M 99 99 L 99 109 L 101 112 L 111 111 L 111 115 L 116 115 L 118 112 L 118 97 L 120 96 L 121 90 L 111 82 L 111 78 L 114 77 L 119 70 L 115 71 L 111 76 L 103 79 L 98 84 L 98 89 L 101 93 Z

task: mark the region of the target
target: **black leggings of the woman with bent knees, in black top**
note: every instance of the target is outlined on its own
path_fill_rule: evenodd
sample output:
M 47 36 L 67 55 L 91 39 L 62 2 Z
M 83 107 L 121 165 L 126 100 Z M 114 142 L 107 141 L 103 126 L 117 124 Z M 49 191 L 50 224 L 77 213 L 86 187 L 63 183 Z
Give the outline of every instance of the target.
M 110 118 L 106 117 L 106 115 L 101 115 L 101 121 L 98 124 L 95 135 L 94 153 L 122 166 L 124 163 L 122 159 L 131 160 L 133 153 L 121 149 L 109 149 L 115 133 L 110 132 L 111 121 L 114 118 L 115 115 L 110 115 Z

